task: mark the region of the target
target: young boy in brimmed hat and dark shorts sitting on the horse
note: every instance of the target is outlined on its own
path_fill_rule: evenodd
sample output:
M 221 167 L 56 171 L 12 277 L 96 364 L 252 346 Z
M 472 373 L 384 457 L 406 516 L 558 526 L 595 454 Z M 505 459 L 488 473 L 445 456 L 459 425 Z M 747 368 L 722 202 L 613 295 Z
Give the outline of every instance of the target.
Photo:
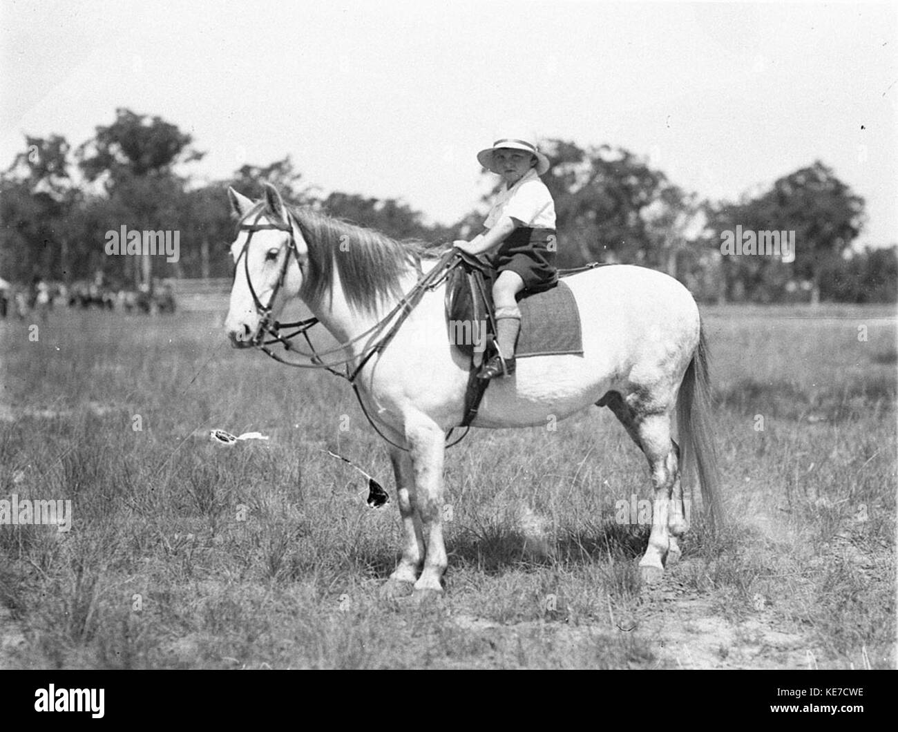
M 526 140 L 504 137 L 481 150 L 477 159 L 502 176 L 506 185 L 483 222 L 486 230 L 470 242 L 458 240 L 454 245 L 469 254 L 489 252 L 490 263 L 498 270 L 493 303 L 499 352 L 479 374 L 481 379 L 492 379 L 515 373 L 515 342 L 521 327 L 518 293 L 541 292 L 558 284 L 555 203 L 540 180 L 549 170 L 549 158 Z

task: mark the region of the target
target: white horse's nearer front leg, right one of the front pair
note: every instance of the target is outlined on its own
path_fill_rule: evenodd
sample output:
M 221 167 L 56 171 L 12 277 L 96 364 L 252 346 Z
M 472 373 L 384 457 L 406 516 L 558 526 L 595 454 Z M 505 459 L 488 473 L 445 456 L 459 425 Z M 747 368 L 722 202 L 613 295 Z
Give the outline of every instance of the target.
M 421 521 L 426 553 L 424 569 L 415 583 L 415 598 L 442 594 L 441 579 L 447 559 L 443 543 L 443 460 L 445 434 L 431 419 L 418 419 L 406 427 L 406 441 L 415 474 L 412 506 Z

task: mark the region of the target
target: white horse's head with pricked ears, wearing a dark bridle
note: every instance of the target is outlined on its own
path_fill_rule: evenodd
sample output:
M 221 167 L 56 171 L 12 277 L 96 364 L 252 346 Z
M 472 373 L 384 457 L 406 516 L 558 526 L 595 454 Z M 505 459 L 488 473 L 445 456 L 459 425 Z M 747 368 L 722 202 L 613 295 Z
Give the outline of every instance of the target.
M 228 189 L 237 238 L 231 304 L 225 330 L 235 348 L 257 345 L 277 321 L 288 300 L 299 293 L 308 247 L 299 225 L 277 189 L 264 184 L 265 197 L 251 201 Z

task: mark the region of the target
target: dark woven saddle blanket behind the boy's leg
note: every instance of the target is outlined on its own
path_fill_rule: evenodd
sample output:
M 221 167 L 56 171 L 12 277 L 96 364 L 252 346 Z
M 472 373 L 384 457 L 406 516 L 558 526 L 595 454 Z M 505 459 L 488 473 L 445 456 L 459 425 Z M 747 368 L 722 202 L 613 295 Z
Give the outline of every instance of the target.
M 564 280 L 556 287 L 518 301 L 521 334 L 515 358 L 528 356 L 583 356 L 583 333 L 577 301 Z

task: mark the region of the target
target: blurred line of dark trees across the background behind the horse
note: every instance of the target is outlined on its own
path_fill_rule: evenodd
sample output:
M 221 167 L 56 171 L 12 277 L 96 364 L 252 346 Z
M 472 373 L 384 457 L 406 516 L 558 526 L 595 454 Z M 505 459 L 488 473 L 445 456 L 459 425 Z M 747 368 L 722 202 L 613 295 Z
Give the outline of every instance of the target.
M 821 161 L 737 201 L 709 201 L 621 147 L 552 139 L 541 149 L 552 163 L 542 180 L 555 200 L 559 267 L 641 264 L 668 272 L 711 301 L 896 299 L 898 248 L 855 251 L 864 200 Z M 209 183 L 189 173 L 202 157 L 193 137 L 176 125 L 127 109 L 74 149 L 65 137 L 26 136 L 25 149 L 0 173 L 0 278 L 71 283 L 101 271 L 130 286 L 151 276 L 227 277 L 234 234 L 228 185 L 252 195 L 269 181 L 295 205 L 393 238 L 427 241 L 478 233 L 489 200 L 485 196 L 454 225 L 427 225 L 423 213 L 401 199 L 321 195 L 289 156 L 242 165 L 230 179 Z M 180 232 L 180 257 L 107 256 L 106 233 L 122 225 Z M 789 234 L 794 251 L 759 254 L 762 243 L 747 236 L 744 249 L 740 242 L 738 253 L 727 250 L 723 243 L 736 232 Z

